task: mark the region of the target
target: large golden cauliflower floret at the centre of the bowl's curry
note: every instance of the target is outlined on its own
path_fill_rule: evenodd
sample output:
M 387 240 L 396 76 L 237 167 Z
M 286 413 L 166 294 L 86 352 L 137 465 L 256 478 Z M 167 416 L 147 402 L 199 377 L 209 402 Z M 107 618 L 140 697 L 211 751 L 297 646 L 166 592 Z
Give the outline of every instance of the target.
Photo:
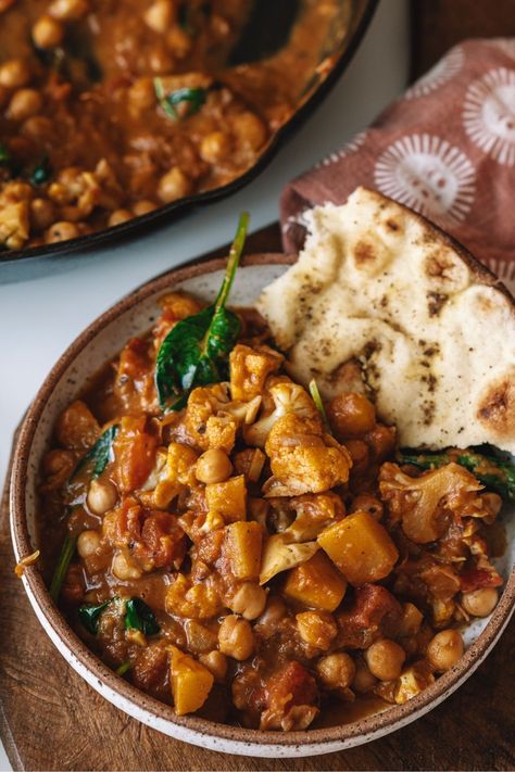
M 319 417 L 302 418 L 290 413 L 272 427 L 265 451 L 273 478 L 265 483 L 266 496 L 322 493 L 349 479 L 349 452 L 323 434 Z

